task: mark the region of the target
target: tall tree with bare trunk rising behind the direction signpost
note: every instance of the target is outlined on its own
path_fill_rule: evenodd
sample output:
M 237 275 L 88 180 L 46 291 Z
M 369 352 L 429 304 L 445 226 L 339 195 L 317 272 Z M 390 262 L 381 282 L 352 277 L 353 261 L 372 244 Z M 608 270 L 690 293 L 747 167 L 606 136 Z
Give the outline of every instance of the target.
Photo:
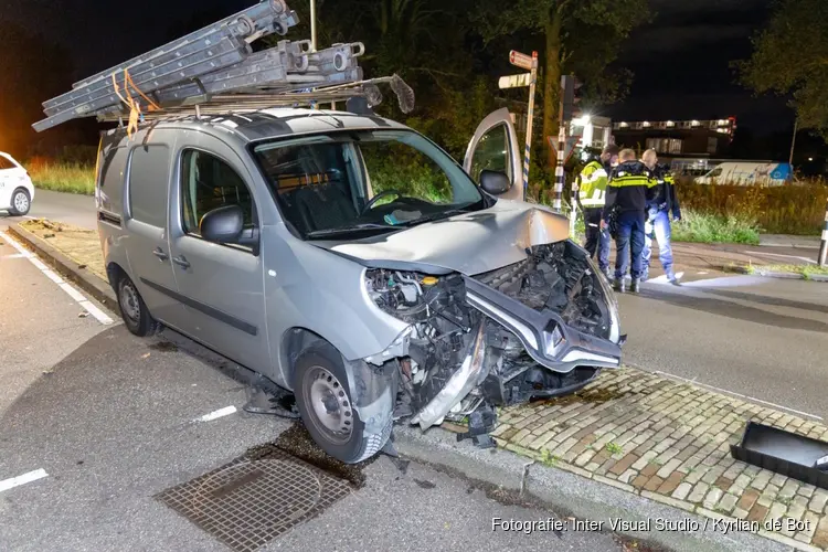
M 473 20 L 487 42 L 516 33 L 543 39 L 543 132 L 558 135 L 561 75 L 584 83 L 585 99 L 613 103 L 623 97 L 631 74 L 608 70 L 620 43 L 650 18 L 647 0 L 482 0 Z M 554 157 L 550 156 L 554 162 Z

